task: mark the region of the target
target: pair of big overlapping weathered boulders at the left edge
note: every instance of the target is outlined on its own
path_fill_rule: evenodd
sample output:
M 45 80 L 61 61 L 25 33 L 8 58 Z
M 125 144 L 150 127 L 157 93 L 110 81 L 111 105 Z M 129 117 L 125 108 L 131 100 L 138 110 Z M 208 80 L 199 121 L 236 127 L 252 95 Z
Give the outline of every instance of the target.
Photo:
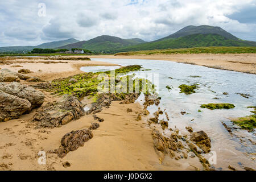
M 44 102 L 44 94 L 18 82 L 0 83 L 0 122 L 17 119 Z

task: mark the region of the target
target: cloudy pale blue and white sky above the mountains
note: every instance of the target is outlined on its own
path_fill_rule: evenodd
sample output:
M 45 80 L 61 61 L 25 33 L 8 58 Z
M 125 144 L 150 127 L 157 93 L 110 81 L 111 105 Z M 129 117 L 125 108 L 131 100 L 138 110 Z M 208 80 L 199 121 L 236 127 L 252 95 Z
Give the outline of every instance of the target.
M 256 41 L 256 0 L 1 0 L 0 47 L 100 35 L 151 41 L 202 24 Z

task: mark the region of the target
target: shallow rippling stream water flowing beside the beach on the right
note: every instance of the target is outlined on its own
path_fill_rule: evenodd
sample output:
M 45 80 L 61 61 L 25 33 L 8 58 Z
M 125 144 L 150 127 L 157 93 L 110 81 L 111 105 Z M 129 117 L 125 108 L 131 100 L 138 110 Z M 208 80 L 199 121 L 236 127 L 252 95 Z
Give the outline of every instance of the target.
M 92 59 L 93 61 L 104 61 L 119 64 L 122 66 L 139 64 L 143 69 L 150 71 L 133 72 L 137 77 L 145 77 L 147 74 L 157 73 L 159 82 L 153 79 L 152 82 L 158 88 L 159 96 L 162 98 L 160 107 L 166 109 L 169 117 L 170 127 L 177 127 L 185 130 L 185 126 L 193 127 L 194 131 L 204 130 L 212 140 L 212 150 L 217 154 L 217 164 L 214 167 L 226 169 L 232 165 L 237 169 L 243 167 L 256 168 L 255 160 L 250 158 L 255 155 L 247 155 L 256 152 L 255 145 L 251 144 L 248 138 L 255 141 L 255 132 L 248 133 L 245 130 L 233 131 L 234 134 L 242 135 L 243 144 L 240 138 L 231 137 L 228 131 L 222 126 L 222 121 L 232 126 L 228 118 L 250 115 L 247 106 L 256 105 L 256 75 L 225 71 L 221 69 L 207 68 L 199 65 L 175 63 L 161 60 L 135 60 L 135 59 Z M 113 70 L 119 67 L 82 67 L 84 72 L 98 72 Z M 143 70 L 142 69 L 142 70 Z M 200 76 L 200 77 L 191 77 Z M 171 78 L 170 78 L 171 77 Z M 157 80 L 157 79 L 156 79 Z M 179 93 L 181 84 L 198 84 L 196 93 L 185 95 Z M 171 86 L 168 90 L 166 86 Z M 222 94 L 227 92 L 228 95 Z M 236 93 L 249 94 L 251 97 L 244 98 Z M 219 98 L 218 100 L 214 97 Z M 230 103 L 236 107 L 230 110 L 209 110 L 200 108 L 201 104 L 208 103 Z M 198 110 L 201 112 L 198 112 Z M 187 114 L 181 115 L 180 111 Z M 247 154 L 246 154 L 247 153 Z M 210 156 L 205 155 L 205 158 Z

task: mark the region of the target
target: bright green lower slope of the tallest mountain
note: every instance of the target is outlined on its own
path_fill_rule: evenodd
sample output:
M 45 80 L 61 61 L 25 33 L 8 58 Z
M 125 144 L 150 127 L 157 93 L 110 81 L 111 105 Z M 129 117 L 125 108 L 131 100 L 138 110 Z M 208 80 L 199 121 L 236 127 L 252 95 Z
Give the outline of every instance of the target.
M 148 42 L 136 46 L 113 49 L 113 52 L 141 51 L 167 48 L 212 47 L 212 46 L 256 46 L 256 42 L 232 40 L 217 34 L 193 34 L 180 38 L 168 38 L 158 42 Z

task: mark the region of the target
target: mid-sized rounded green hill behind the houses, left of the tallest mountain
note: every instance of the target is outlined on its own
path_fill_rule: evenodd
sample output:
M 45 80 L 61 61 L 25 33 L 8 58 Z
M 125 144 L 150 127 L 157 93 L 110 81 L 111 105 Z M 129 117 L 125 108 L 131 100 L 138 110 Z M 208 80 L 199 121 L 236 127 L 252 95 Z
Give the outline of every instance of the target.
M 71 48 L 83 48 L 90 51 L 105 51 L 109 52 L 113 49 L 118 49 L 126 46 L 134 46 L 137 44 L 145 43 L 144 40 L 133 39 L 121 39 L 116 36 L 102 35 L 88 41 L 81 41 L 67 46 L 57 47 L 57 49 L 71 49 Z

